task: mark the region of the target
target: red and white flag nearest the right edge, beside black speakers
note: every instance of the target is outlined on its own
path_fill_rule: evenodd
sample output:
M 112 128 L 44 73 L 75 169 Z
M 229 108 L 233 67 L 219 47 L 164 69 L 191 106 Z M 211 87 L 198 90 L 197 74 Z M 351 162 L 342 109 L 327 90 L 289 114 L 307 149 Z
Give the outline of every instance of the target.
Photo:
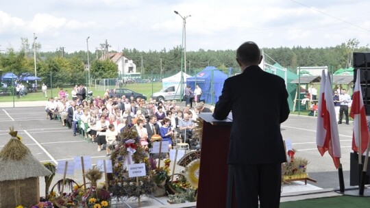
M 358 153 L 359 144 L 361 144 L 361 155 L 367 148 L 369 142 L 369 129 L 367 128 L 366 112 L 360 86 L 360 69 L 357 70 L 354 94 L 352 96 L 351 112 L 349 114 L 354 118 L 354 134 L 352 139 L 352 150 Z

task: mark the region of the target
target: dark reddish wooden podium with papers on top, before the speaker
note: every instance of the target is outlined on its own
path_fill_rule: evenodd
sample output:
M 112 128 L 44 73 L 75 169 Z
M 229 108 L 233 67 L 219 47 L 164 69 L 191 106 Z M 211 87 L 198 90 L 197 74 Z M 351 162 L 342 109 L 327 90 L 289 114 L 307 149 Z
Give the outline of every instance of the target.
M 225 120 L 214 119 L 212 113 L 201 113 L 199 117 L 203 120 L 203 138 L 197 208 L 226 207 L 232 115 Z

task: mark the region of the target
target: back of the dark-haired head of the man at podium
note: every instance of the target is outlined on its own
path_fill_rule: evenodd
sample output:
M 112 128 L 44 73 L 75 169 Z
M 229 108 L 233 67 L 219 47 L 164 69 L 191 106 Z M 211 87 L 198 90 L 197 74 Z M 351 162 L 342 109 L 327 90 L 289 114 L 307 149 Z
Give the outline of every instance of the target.
M 236 58 L 243 63 L 260 62 L 261 52 L 255 42 L 245 42 L 236 50 Z

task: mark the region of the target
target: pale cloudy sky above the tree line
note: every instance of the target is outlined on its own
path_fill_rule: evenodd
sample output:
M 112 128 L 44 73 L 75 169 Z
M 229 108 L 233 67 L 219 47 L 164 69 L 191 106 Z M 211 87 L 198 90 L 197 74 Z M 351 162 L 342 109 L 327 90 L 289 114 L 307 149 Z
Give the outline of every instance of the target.
M 18 51 L 21 38 L 41 51 L 235 50 L 335 47 L 350 38 L 370 43 L 369 0 L 0 0 L 0 52 Z M 175 14 L 174 11 L 179 12 Z M 88 38 L 90 37 L 90 38 Z M 88 42 L 86 42 L 88 38 Z

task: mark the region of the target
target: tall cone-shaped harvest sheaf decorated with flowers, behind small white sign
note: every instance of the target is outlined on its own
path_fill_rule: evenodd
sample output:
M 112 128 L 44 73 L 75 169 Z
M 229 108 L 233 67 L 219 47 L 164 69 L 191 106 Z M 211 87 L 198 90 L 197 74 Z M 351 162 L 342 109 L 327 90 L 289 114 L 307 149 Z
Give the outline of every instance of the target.
M 115 197 L 134 197 L 143 194 L 151 194 L 156 188 L 150 174 L 150 163 L 147 153 L 140 146 L 140 139 L 135 127 L 127 127 L 119 134 L 119 144 L 112 152 L 113 173 L 110 177 L 109 185 L 112 196 Z M 128 163 L 145 164 L 146 176 L 129 178 Z

